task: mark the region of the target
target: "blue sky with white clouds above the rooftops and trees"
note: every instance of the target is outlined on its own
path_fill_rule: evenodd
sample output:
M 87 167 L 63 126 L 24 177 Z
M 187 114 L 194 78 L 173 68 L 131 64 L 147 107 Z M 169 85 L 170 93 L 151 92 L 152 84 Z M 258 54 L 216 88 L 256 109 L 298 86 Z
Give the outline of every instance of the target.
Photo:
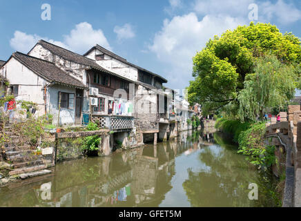
M 43 3 L 51 6 L 50 21 L 41 19 Z M 195 53 L 214 35 L 248 24 L 252 3 L 258 6 L 255 21 L 301 37 L 298 0 L 1 0 L 0 59 L 28 52 L 38 39 L 80 54 L 99 44 L 182 89 L 193 79 Z

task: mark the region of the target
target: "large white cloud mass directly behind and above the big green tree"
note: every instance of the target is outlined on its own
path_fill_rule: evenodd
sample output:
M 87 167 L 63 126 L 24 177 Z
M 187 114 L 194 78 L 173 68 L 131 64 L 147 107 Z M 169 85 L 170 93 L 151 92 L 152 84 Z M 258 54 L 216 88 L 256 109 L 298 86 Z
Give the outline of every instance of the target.
M 152 44 L 148 46 L 148 50 L 166 66 L 164 72 L 168 75 L 168 83 L 174 87 L 188 86 L 196 50 L 202 50 L 214 35 L 249 24 L 251 3 L 258 5 L 260 22 L 287 24 L 301 19 L 301 11 L 284 0 L 193 0 L 191 4 L 169 0 L 164 11 L 172 19 L 164 20 L 162 29 L 155 33 Z M 174 15 L 177 10 L 187 8 L 191 13 Z

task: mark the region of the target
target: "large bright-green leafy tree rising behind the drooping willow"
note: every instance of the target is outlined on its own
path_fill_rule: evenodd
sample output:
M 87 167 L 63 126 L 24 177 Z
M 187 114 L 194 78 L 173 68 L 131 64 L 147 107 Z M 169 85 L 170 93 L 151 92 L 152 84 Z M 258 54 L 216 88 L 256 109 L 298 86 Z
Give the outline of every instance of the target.
M 205 112 L 239 106 L 237 96 L 245 79 L 267 54 L 275 55 L 282 64 L 300 64 L 300 39 L 282 34 L 270 23 L 250 23 L 215 36 L 193 57 L 195 79 L 188 86 L 188 101 L 202 104 Z

